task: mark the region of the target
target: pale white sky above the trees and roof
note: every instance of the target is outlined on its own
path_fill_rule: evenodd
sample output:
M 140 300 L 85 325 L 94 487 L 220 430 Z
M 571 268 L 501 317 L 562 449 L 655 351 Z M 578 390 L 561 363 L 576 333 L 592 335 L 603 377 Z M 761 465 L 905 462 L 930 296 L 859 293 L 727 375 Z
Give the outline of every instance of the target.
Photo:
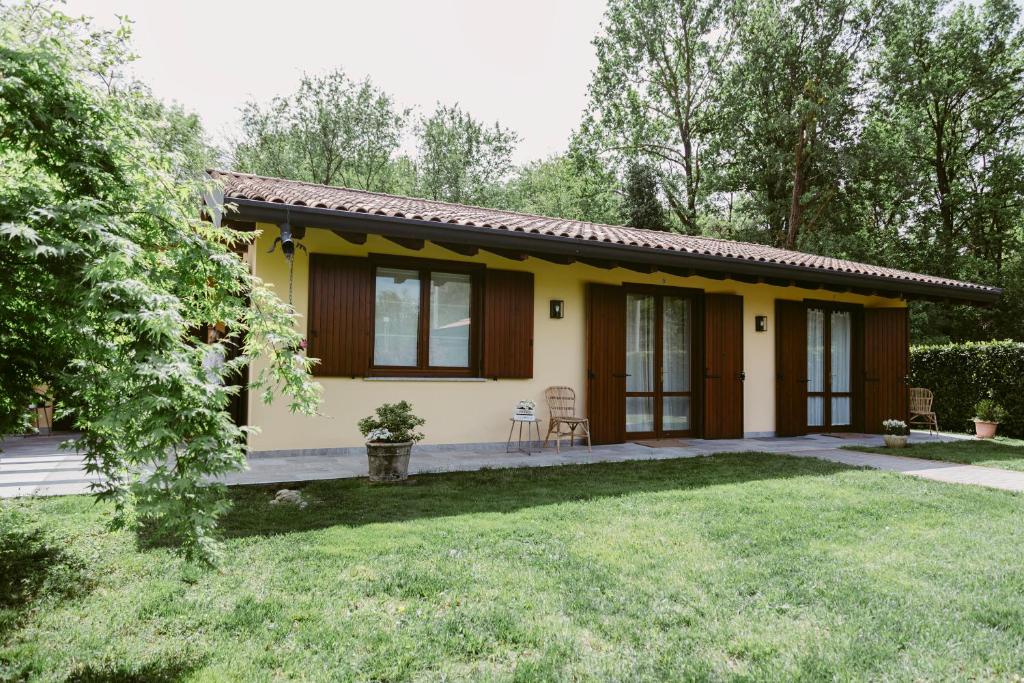
M 595 65 L 603 0 L 68 0 L 70 14 L 134 20 L 133 71 L 198 112 L 217 141 L 238 108 L 303 72 L 369 75 L 403 106 L 458 101 L 522 137 L 517 162 L 564 150 Z

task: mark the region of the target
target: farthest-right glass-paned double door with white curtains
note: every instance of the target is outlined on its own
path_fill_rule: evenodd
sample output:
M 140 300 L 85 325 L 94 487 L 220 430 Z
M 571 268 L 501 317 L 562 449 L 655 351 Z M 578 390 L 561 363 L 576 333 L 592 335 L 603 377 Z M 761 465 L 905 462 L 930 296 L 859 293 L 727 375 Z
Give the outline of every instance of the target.
M 853 425 L 853 313 L 807 309 L 807 427 L 810 431 Z

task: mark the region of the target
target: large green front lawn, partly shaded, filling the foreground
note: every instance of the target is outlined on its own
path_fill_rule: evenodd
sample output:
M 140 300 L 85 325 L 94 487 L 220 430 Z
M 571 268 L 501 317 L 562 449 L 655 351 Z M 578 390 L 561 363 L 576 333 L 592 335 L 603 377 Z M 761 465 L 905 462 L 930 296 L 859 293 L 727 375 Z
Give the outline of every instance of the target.
M 219 571 L 0 507 L 0 680 L 1007 679 L 1024 499 L 766 454 L 236 488 Z

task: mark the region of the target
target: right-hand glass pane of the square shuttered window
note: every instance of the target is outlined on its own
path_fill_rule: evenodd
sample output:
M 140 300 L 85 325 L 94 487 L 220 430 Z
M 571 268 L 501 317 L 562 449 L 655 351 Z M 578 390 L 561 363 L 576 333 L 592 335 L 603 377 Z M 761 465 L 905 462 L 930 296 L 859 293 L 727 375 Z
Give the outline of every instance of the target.
M 430 365 L 434 368 L 469 367 L 471 289 L 468 274 L 430 273 Z

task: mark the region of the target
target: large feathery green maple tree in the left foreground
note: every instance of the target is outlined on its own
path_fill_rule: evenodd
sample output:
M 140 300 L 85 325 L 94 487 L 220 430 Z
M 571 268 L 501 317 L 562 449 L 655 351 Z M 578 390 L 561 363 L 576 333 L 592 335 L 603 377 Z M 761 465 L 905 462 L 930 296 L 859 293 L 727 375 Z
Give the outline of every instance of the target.
M 206 187 L 155 143 L 152 101 L 101 78 L 127 36 L 45 4 L 0 10 L 0 427 L 18 431 L 48 387 L 117 523 L 209 559 L 225 503 L 208 479 L 245 464 L 227 379 L 261 357 L 251 387 L 307 413 L 316 385 L 293 311 L 230 251 L 249 238 L 200 220 Z M 197 343 L 217 323 L 229 335 Z

